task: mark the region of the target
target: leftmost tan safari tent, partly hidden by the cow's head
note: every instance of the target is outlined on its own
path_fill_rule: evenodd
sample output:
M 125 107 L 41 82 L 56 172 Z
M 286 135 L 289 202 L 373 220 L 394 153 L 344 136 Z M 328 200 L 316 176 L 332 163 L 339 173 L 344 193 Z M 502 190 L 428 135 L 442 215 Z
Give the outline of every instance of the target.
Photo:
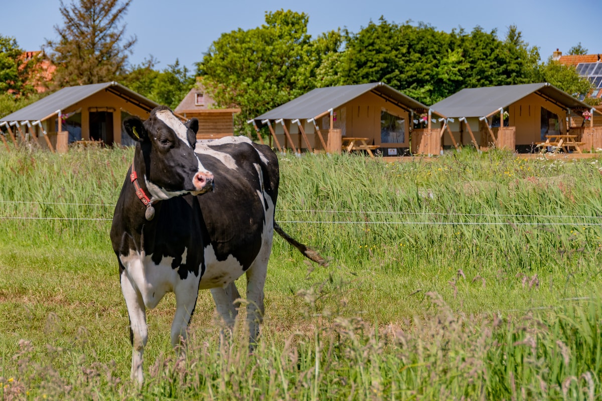
M 52 152 L 67 152 L 74 142 L 131 144 L 122 120 L 129 115 L 146 119 L 156 106 L 117 82 L 66 87 L 0 118 L 0 139 L 7 149 L 28 142 Z

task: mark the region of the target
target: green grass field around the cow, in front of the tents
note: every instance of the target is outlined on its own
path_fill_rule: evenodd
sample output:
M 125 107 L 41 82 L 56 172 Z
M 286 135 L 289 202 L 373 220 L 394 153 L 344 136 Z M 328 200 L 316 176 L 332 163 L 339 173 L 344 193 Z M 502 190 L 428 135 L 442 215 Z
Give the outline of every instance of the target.
M 602 397 L 599 159 L 280 156 L 276 219 L 329 266 L 276 237 L 253 355 L 201 292 L 178 359 L 167 296 L 141 388 L 108 235 L 131 159 L 0 151 L 1 400 Z

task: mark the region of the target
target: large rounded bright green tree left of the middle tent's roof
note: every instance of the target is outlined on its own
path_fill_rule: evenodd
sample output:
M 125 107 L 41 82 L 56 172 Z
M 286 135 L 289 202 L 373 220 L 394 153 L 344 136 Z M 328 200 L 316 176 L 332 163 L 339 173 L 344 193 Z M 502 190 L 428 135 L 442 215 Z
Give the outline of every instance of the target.
M 308 20 L 290 10 L 267 12 L 264 25 L 222 34 L 197 63 L 217 106 L 241 108 L 234 121 L 238 133 L 253 133 L 247 120 L 315 87 L 317 66 L 338 49 L 340 35 L 312 41 Z

